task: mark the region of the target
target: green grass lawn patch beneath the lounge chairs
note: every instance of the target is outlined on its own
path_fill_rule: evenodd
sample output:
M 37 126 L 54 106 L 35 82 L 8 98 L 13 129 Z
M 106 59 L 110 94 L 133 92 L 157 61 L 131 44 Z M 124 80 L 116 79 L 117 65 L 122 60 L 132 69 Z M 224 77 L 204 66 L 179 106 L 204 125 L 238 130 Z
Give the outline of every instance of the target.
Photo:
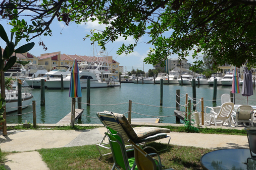
M 166 144 L 152 142 L 151 146 L 160 150 L 165 148 Z M 102 148 L 103 153 L 110 150 Z M 147 153 L 153 152 L 152 149 L 146 149 Z M 197 147 L 170 145 L 166 151 L 160 152 L 159 155 L 165 168 L 178 169 L 202 169 L 200 157 L 204 153 L 212 151 Z M 38 152 L 42 155 L 43 161 L 53 170 L 61 169 L 100 169 L 109 170 L 114 164 L 112 154 L 101 156 L 95 145 L 40 149 Z M 133 151 L 130 152 L 132 156 Z

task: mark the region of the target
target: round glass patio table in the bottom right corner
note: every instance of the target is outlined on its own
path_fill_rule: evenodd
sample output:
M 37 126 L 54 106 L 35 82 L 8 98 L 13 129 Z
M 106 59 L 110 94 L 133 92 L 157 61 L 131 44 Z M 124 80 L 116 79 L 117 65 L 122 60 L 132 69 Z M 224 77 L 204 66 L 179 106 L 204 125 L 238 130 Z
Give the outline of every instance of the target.
M 200 163 L 207 170 L 255 170 L 256 160 L 250 149 L 220 149 L 202 155 Z

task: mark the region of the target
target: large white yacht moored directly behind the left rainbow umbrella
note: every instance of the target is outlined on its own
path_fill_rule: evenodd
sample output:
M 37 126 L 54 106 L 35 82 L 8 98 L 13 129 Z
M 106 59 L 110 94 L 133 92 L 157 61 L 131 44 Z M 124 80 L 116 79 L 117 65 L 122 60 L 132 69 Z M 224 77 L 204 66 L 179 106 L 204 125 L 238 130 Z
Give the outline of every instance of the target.
M 71 74 L 68 74 L 65 78 L 63 78 L 63 88 L 69 89 L 70 87 L 70 77 Z M 79 71 L 80 77 L 80 86 L 81 88 L 87 88 L 87 79 L 90 79 L 90 88 L 107 88 L 107 82 L 102 82 L 99 75 L 90 72 L 87 69 L 83 69 Z M 47 89 L 61 89 L 61 78 L 55 79 L 45 79 L 44 86 Z

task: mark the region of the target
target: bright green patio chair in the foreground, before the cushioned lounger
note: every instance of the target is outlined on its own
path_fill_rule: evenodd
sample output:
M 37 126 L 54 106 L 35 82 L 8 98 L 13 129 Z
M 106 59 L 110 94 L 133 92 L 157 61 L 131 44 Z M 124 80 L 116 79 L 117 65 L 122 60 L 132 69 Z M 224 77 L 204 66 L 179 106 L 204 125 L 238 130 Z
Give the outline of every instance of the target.
M 134 157 L 128 158 L 127 156 L 122 136 L 118 134 L 118 132 L 115 135 L 105 132 L 105 135 L 109 139 L 109 144 L 114 159 L 112 170 L 115 168 L 119 169 L 118 166 L 125 170 L 137 169 Z

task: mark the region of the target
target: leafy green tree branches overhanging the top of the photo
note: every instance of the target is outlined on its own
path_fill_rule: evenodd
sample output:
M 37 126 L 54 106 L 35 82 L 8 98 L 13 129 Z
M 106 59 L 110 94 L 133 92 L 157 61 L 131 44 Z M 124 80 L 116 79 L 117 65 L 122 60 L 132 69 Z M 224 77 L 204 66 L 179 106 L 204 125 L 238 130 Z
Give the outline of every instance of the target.
M 2 19 L 10 20 L 19 38 L 27 41 L 51 35 L 50 24 L 57 18 L 69 25 L 99 21 L 105 30 L 84 35 L 105 49 L 119 36 L 131 36 L 134 43 L 122 44 L 118 54 L 130 53 L 142 36 L 149 36 L 150 49 L 144 62 L 157 64 L 173 54 L 192 55 L 194 64 L 203 64 L 200 55 L 213 66 L 244 63 L 256 66 L 255 1 L 250 0 L 9 0 L 0 5 Z M 26 23 L 20 17 L 29 17 Z M 27 20 L 27 21 L 29 21 Z M 47 48 L 41 43 L 43 48 Z

